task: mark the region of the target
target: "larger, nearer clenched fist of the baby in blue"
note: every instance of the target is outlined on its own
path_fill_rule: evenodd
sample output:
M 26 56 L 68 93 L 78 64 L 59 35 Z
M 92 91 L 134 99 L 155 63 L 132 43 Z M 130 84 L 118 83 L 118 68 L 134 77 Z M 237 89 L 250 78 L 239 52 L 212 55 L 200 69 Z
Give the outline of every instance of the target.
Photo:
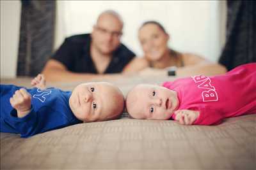
M 15 110 L 17 110 L 17 116 L 19 118 L 28 115 L 31 108 L 31 96 L 26 89 L 16 90 L 15 94 L 10 98 L 10 103 Z

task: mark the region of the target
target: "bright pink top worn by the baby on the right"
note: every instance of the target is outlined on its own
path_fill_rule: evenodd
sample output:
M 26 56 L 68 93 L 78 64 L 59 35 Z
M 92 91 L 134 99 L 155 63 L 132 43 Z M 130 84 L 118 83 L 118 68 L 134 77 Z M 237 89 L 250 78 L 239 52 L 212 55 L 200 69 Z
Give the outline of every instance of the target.
M 166 81 L 163 87 L 177 92 L 178 110 L 200 111 L 193 124 L 219 124 L 223 118 L 256 113 L 256 62 L 220 76 Z

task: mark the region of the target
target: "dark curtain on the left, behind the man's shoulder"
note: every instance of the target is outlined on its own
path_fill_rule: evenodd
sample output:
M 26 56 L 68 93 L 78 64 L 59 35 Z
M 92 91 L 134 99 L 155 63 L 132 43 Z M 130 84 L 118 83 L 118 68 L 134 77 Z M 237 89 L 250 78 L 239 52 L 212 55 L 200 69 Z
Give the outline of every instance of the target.
M 21 1 L 17 76 L 36 76 L 54 43 L 55 1 Z

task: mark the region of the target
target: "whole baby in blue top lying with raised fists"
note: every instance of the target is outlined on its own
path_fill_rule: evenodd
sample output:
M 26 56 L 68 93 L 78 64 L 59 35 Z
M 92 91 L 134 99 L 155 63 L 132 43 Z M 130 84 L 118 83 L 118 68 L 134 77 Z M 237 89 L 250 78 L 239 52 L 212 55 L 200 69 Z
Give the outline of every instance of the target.
M 33 89 L 1 85 L 1 132 L 27 138 L 68 125 L 115 119 L 124 110 L 124 96 L 111 83 L 82 83 L 65 92 L 46 88 L 44 75 L 38 74 L 31 85 Z

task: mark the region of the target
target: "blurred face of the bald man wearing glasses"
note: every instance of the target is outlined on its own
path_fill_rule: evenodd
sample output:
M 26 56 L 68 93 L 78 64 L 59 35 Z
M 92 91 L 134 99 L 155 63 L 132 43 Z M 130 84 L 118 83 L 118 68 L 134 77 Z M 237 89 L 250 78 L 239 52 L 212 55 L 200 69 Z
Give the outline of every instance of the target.
M 115 16 L 103 14 L 92 31 L 92 45 L 102 55 L 110 55 L 120 45 L 122 22 Z

